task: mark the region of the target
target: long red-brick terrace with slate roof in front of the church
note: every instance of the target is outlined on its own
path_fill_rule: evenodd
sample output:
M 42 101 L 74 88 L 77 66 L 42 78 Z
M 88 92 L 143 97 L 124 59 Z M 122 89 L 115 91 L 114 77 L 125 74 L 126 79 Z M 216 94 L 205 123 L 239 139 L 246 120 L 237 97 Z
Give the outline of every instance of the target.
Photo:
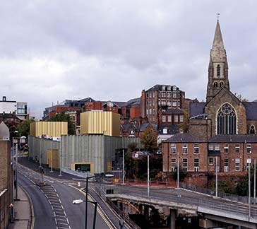
M 191 134 L 176 134 L 162 143 L 163 171 L 179 166 L 187 172 L 215 172 L 244 175 L 257 159 L 257 135 L 217 135 L 205 141 Z

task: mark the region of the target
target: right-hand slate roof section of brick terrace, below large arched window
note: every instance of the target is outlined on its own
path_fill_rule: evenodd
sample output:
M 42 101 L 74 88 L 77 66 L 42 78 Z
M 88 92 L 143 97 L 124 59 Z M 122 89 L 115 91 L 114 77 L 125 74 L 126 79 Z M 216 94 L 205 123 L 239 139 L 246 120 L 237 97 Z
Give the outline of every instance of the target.
M 220 134 L 216 135 L 212 139 L 209 139 L 210 143 L 251 143 L 257 142 L 257 135 L 256 134 Z

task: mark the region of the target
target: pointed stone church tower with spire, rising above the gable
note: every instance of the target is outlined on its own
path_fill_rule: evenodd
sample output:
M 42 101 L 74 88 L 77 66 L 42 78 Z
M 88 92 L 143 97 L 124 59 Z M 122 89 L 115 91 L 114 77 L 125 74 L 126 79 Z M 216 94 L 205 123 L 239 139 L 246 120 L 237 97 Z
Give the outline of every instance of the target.
M 210 50 L 206 102 L 209 102 L 221 88 L 229 90 L 227 54 L 224 48 L 220 23 L 217 20 L 213 47 Z

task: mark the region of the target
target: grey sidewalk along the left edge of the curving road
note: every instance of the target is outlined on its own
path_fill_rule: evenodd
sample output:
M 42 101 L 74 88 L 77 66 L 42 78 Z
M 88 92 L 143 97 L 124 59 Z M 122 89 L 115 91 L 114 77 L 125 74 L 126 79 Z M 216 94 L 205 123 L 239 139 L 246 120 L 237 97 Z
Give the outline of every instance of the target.
M 14 221 L 10 223 L 8 229 L 30 229 L 31 209 L 28 195 L 18 186 L 18 199 L 14 201 Z

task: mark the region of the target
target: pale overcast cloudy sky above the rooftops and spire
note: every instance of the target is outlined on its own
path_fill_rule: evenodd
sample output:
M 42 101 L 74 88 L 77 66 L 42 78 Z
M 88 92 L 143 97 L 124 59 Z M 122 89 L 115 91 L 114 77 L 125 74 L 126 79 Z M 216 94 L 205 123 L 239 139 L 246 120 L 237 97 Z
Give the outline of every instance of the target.
M 0 6 L 0 91 L 30 114 L 127 101 L 155 84 L 205 100 L 217 13 L 230 90 L 256 100 L 257 1 L 12 0 Z

